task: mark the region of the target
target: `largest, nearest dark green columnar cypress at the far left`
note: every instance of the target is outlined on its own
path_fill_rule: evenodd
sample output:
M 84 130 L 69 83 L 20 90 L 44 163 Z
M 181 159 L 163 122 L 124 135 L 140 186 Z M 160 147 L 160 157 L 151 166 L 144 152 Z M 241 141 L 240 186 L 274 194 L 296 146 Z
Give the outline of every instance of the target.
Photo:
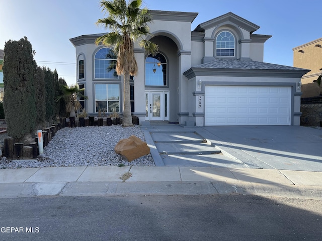
M 36 127 L 36 62 L 28 39 L 5 44 L 4 109 L 8 135 L 19 140 Z

